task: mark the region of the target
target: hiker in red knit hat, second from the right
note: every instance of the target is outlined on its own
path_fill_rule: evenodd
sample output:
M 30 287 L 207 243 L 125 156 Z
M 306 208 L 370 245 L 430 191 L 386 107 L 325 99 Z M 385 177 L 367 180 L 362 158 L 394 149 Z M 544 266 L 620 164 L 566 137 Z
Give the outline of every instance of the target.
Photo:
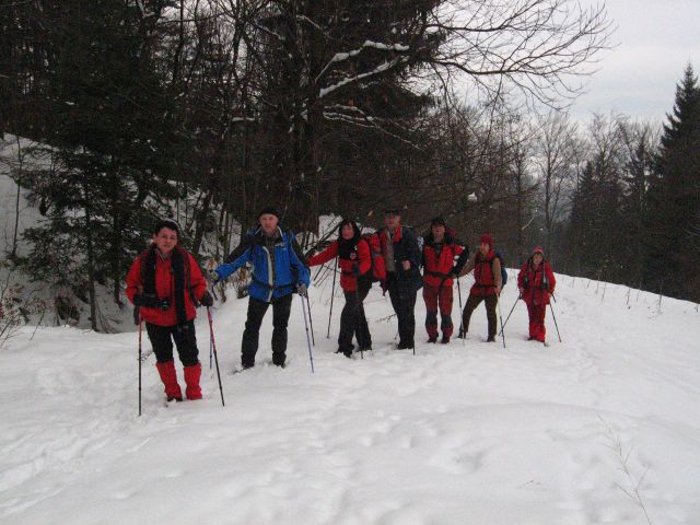
M 501 260 L 493 250 L 493 237 L 485 233 L 480 237 L 479 249 L 469 259 L 469 262 L 458 273 L 466 276 L 474 270 L 474 285 L 469 291 L 467 304 L 464 306 L 462 326 L 463 332 L 459 337 L 466 337 L 469 331 L 469 319 L 476 307 L 483 301 L 486 303 L 486 314 L 489 320 L 488 342 L 495 342 L 497 315 L 499 295 L 501 294 Z

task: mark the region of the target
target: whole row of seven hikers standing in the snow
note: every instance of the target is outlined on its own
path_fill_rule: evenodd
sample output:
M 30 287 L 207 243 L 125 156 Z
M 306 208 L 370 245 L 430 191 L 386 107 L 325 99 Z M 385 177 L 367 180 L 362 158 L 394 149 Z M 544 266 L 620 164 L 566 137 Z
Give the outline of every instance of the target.
M 418 291 L 423 289 L 428 342 L 448 343 L 453 332 L 454 280 L 474 271 L 474 285 L 462 312 L 459 338 L 466 338 L 469 320 L 485 302 L 488 318 L 487 341 L 495 341 L 497 305 L 506 278 L 503 261 L 485 233 L 478 249 L 469 256 L 468 247 L 455 237 L 442 218 L 431 221 L 430 231 L 421 240 L 401 224 L 401 211 L 386 210 L 384 228 L 363 234 L 357 222 L 343 220 L 338 238 L 326 249 L 306 258 L 293 233 L 283 230 L 280 214 L 268 207 L 258 214 L 258 224 L 243 235 L 240 245 L 218 268 L 202 272 L 195 257 L 178 245 L 179 226 L 173 220 L 160 221 L 152 243 L 133 261 L 127 276 L 127 296 L 138 307 L 138 319 L 145 324 L 156 358 L 156 368 L 168 400 L 182 400 L 173 358 L 173 341 L 184 366 L 187 399 L 200 399 L 198 359 L 194 319 L 196 307 L 210 307 L 208 291 L 238 268 L 249 265 L 248 310 L 241 345 L 243 369 L 255 366 L 259 330 L 268 307 L 272 306 L 272 363 L 284 368 L 287 326 L 294 293 L 307 296 L 310 267 L 336 259 L 346 303 L 340 316 L 337 353 L 352 358 L 353 351 L 372 350 L 372 336 L 364 314 L 363 301 L 373 282 L 388 292 L 398 319 L 398 349 L 415 349 L 415 306 Z M 422 241 L 422 243 L 421 243 Z M 422 268 L 422 275 L 421 275 Z M 335 278 L 335 276 L 334 276 Z M 545 342 L 545 313 L 556 280 L 544 250 L 539 247 L 523 265 L 517 277 L 520 298 L 527 305 L 529 339 Z M 352 339 L 357 340 L 355 349 Z

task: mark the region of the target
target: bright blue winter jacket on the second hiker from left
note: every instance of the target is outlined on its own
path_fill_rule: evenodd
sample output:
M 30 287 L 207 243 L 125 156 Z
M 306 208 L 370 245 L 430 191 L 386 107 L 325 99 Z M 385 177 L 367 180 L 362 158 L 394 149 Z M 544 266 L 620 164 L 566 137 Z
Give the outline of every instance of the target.
M 253 265 L 253 282 L 248 288 L 252 298 L 271 302 L 273 299 L 289 295 L 299 283 L 311 283 L 310 271 L 294 250 L 294 234 L 277 229 L 275 242 L 275 266 L 270 265 L 271 254 L 265 243 L 261 229 L 246 233 L 247 249 L 233 262 L 219 266 L 214 271 L 221 279 L 228 278 L 246 262 Z

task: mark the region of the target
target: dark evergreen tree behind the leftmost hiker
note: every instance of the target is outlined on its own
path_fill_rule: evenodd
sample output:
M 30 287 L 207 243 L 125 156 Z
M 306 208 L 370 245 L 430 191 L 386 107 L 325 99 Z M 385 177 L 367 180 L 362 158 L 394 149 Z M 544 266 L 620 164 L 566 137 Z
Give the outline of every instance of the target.
M 28 180 L 47 219 L 26 232 L 28 261 L 35 276 L 54 271 L 52 282 L 84 295 L 93 329 L 95 282 L 112 283 L 119 303 L 127 265 L 143 248 L 153 208 L 168 196 L 166 93 L 144 26 L 161 8 L 74 0 L 50 30 L 60 52 L 47 83 L 42 141 L 50 145 L 42 153 L 51 165 Z

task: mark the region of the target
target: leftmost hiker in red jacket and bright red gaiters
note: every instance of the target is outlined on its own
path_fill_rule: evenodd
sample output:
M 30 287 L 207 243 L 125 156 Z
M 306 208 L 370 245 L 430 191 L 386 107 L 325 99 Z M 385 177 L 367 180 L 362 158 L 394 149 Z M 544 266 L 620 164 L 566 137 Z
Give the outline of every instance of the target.
M 139 255 L 127 275 L 127 296 L 139 308 L 140 319 L 155 353 L 155 366 L 168 401 L 183 400 L 177 382 L 173 341 L 184 366 L 187 399 L 201 399 L 201 364 L 195 336 L 196 307 L 211 306 L 213 299 L 195 257 L 178 245 L 179 226 L 159 221 L 152 244 Z

